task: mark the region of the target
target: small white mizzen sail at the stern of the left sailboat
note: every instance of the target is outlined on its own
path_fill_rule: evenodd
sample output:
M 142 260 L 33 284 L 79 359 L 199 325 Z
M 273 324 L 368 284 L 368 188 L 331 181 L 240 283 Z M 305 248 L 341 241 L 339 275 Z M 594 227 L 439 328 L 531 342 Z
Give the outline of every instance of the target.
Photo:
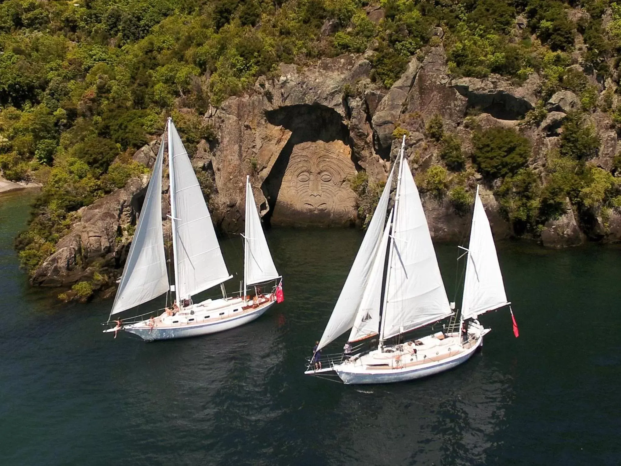
M 246 285 L 255 285 L 274 280 L 280 275 L 276 271 L 270 248 L 263 234 L 261 219 L 256 210 L 255 196 L 250 186 L 250 176 L 246 178 L 246 220 L 245 220 L 244 267 Z

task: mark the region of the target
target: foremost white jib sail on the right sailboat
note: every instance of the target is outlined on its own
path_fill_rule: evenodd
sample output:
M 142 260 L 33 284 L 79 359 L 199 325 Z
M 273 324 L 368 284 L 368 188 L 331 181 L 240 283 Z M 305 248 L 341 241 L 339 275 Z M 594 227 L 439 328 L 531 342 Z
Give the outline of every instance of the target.
M 353 326 L 369 273 L 371 273 L 373 260 L 378 252 L 382 232 L 384 231 L 393 172 L 394 168 L 391 170 L 390 176 L 388 176 L 384 191 L 381 198 L 379 198 L 378 206 L 373 212 L 373 218 L 369 222 L 365 237 L 362 240 L 360 249 L 358 249 L 358 254 L 356 254 L 350 273 L 347 276 L 347 280 L 345 280 L 345 285 L 343 285 L 341 294 L 338 296 L 337 304 L 334 306 L 324 334 L 321 340 L 319 340 L 319 349 L 322 349 Z

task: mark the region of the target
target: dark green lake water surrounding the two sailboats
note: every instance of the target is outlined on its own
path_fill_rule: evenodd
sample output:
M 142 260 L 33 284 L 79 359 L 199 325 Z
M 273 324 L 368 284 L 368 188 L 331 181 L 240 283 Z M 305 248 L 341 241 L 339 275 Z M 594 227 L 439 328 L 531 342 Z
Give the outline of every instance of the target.
M 27 287 L 12 239 L 28 203 L 0 197 L 1 465 L 621 464 L 617 247 L 501 244 L 519 339 L 507 311 L 486 314 L 465 365 L 361 389 L 302 375 L 360 232 L 270 231 L 283 304 L 145 344 L 101 333 L 111 301 L 65 306 Z M 239 246 L 223 243 L 234 272 Z M 438 256 L 452 290 L 455 247 Z

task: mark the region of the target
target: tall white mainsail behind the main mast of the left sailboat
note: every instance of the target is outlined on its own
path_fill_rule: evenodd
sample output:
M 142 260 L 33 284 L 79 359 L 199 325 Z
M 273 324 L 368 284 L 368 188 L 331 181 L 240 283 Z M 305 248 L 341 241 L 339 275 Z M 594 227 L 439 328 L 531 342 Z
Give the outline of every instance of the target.
M 169 120 L 171 214 L 175 249 L 175 291 L 187 299 L 231 278 L 194 168 Z

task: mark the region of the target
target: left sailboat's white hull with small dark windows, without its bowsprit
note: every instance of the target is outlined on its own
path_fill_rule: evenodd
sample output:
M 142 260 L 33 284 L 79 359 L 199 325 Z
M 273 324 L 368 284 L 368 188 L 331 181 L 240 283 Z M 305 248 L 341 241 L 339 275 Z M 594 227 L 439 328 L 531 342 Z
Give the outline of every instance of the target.
M 149 326 L 148 321 L 142 321 L 137 324 L 125 326 L 123 330 L 137 335 L 145 341 L 197 337 L 224 332 L 252 322 L 260 318 L 260 316 L 276 302 L 270 299 L 265 303 L 260 303 L 256 307 L 245 306 L 248 307 L 248 309 L 244 309 L 241 299 L 231 301 L 229 306 L 226 307 L 203 306 L 207 307 L 205 310 L 201 310 L 201 304 L 199 304 L 194 306 L 196 309 L 194 314 L 181 314 L 180 317 L 178 314 L 173 318 L 164 318 L 163 321 L 158 321 L 156 319 L 154 326 Z M 209 313 L 209 315 L 204 315 L 207 313 Z M 219 315 L 220 313 L 222 313 L 222 316 Z M 213 317 L 215 315 L 217 315 L 217 318 Z M 166 322 L 166 319 L 176 319 L 176 321 Z M 188 322 L 189 320 L 191 320 L 191 322 Z

